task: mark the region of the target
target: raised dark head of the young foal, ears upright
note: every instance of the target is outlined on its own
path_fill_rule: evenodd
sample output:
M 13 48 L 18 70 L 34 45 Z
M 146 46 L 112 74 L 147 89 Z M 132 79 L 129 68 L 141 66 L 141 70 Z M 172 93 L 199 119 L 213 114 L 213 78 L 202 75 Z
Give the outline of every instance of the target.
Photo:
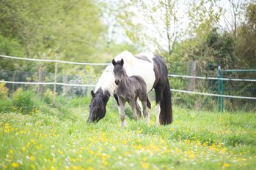
M 121 61 L 114 61 L 112 60 L 112 64 L 114 65 L 114 82 L 116 85 L 120 85 L 122 77 L 125 75 L 125 71 L 123 69 L 123 60 Z

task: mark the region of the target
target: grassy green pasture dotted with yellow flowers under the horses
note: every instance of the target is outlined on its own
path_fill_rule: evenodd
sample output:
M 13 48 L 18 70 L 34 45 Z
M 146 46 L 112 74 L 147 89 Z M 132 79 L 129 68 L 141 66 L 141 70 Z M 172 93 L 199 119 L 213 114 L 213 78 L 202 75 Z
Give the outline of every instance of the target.
M 120 129 L 112 102 L 89 125 L 72 100 L 0 113 L 0 169 L 256 169 L 255 113 L 174 107 L 174 123 L 156 127 L 153 108 L 150 126 L 126 117 Z

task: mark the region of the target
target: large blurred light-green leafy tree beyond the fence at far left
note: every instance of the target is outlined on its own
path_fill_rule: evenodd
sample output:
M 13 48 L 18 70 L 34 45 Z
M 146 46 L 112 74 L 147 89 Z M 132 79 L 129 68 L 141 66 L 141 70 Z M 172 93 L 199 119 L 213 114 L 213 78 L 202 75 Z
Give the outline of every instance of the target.
M 54 50 L 62 58 L 93 60 L 98 37 L 106 26 L 94 1 L 1 1 L 1 35 L 17 39 L 26 57 L 43 58 Z M 55 58 L 56 56 L 54 56 Z

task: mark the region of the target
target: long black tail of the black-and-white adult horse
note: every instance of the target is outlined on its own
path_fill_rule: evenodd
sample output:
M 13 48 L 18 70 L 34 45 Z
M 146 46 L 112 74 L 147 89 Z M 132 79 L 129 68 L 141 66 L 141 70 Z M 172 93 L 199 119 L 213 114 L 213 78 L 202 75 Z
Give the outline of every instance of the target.
M 161 125 L 168 125 L 172 123 L 172 97 L 171 90 L 169 87 L 169 81 L 167 80 L 167 85 L 163 91 L 163 98 L 160 101 L 160 116 L 159 122 Z

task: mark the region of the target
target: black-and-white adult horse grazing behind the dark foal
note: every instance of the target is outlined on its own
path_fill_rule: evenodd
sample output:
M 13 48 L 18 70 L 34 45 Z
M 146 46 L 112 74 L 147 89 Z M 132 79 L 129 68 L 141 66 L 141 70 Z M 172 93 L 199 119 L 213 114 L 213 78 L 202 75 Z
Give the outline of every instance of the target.
M 123 67 L 128 76 L 139 75 L 147 84 L 147 93 L 155 90 L 156 93 L 156 125 L 168 125 L 172 123 L 172 102 L 171 91 L 168 80 L 167 65 L 160 55 L 153 53 L 139 53 L 132 55 L 128 51 L 124 51 L 117 55 L 114 60 L 125 61 Z M 106 104 L 109 97 L 114 95 L 117 85 L 114 82 L 114 66 L 109 64 L 103 74 L 101 74 L 95 92 L 92 90 L 92 99 L 89 104 L 88 122 L 98 122 L 106 115 Z M 118 102 L 118 98 L 114 95 Z M 147 107 L 150 107 L 150 102 L 147 102 Z M 136 104 L 136 109 L 138 109 Z M 120 110 L 120 108 L 119 108 Z

